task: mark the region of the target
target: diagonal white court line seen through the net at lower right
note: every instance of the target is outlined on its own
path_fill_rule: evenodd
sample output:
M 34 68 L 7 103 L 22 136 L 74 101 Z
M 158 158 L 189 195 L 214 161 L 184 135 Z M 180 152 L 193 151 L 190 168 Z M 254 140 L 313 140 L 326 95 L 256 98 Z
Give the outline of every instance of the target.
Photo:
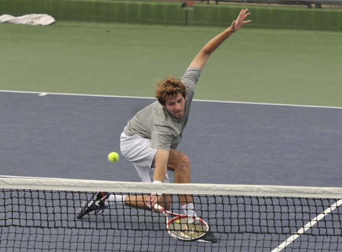
M 287 245 L 289 245 L 291 242 L 295 241 L 298 237 L 300 237 L 300 235 L 304 234 L 308 229 L 312 228 L 313 225 L 315 225 L 318 221 L 320 221 L 325 216 L 327 216 L 329 213 L 334 211 L 341 204 L 342 204 L 342 200 L 336 201 L 329 208 L 327 208 L 323 213 L 314 217 L 311 221 L 306 223 L 306 225 L 303 228 L 299 229 L 294 235 L 287 238 L 286 241 L 281 243 L 278 247 L 273 249 L 271 252 L 280 252 L 281 250 L 283 250 Z

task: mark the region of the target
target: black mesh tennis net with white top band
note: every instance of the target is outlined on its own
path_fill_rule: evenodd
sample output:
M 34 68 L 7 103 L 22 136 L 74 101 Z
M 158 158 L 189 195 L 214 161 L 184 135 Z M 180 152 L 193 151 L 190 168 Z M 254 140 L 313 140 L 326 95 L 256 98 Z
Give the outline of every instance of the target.
M 151 184 L 0 177 L 0 251 L 342 251 L 342 188 Z M 110 204 L 82 219 L 96 191 L 192 194 L 217 243 L 184 242 L 158 212 Z

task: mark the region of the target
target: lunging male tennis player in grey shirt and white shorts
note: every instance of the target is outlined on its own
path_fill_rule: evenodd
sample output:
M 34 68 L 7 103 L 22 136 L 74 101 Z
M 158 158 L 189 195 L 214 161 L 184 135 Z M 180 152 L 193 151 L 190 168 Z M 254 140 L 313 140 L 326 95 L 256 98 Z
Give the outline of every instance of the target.
M 120 135 L 120 150 L 131 161 L 142 182 L 169 183 L 167 170 L 174 172 L 175 183 L 190 183 L 190 161 L 176 150 L 187 124 L 194 87 L 211 53 L 229 36 L 250 23 L 245 20 L 251 13 L 241 10 L 225 31 L 212 38 L 192 60 L 180 78 L 167 76 L 157 86 L 157 101 L 140 110 Z M 107 207 L 108 202 L 123 202 L 131 207 L 153 209 L 158 202 L 165 209 L 171 206 L 170 195 L 110 195 L 99 192 L 87 202 L 78 217 Z M 180 195 L 180 204 L 187 215 L 197 216 L 191 195 Z M 216 242 L 211 233 L 201 240 Z

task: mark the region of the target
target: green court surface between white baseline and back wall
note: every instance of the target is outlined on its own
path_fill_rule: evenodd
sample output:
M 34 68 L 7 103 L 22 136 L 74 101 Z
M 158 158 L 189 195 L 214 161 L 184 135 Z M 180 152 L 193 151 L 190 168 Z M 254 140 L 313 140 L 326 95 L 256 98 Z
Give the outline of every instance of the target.
M 154 96 L 220 27 L 0 24 L 0 90 Z M 196 99 L 342 106 L 342 33 L 243 28 L 212 55 Z

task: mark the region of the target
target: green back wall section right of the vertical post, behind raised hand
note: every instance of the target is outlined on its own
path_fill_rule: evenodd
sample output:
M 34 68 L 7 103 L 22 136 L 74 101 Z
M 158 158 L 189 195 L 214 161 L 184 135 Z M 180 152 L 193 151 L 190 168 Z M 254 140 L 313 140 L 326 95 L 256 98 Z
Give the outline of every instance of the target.
M 307 9 L 276 6 L 248 6 L 253 22 L 250 27 L 296 30 L 342 31 L 342 10 Z M 195 5 L 189 24 L 227 26 L 241 6 Z

